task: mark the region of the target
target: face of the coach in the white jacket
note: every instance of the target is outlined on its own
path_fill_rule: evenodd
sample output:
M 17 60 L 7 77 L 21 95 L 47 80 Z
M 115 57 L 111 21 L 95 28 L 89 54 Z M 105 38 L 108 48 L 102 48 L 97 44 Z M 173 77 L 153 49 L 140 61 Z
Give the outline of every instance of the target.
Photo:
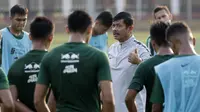
M 130 34 L 129 28 L 124 24 L 124 20 L 114 21 L 112 24 L 113 36 L 116 40 L 123 42 Z

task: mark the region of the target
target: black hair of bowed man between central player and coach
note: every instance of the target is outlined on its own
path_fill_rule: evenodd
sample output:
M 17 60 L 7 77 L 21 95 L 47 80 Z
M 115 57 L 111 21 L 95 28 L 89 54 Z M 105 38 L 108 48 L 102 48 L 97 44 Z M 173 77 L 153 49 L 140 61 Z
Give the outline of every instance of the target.
M 103 11 L 97 16 L 96 20 L 99 20 L 102 25 L 109 28 L 112 25 L 113 17 L 111 12 Z

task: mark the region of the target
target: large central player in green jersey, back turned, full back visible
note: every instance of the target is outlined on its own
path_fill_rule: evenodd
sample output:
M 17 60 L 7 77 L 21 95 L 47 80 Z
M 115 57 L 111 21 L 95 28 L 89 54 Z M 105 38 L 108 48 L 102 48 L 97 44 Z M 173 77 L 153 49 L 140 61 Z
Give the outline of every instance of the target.
M 92 33 L 91 17 L 74 11 L 68 17 L 69 42 L 49 52 L 41 63 L 35 88 L 38 112 L 49 112 L 45 96 L 52 87 L 58 112 L 114 112 L 111 73 L 106 54 L 87 44 Z

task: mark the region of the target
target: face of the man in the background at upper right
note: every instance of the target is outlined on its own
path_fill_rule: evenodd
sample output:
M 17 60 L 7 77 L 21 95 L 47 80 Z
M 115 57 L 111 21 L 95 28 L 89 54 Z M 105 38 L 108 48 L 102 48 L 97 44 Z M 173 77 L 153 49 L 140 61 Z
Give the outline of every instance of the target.
M 160 10 L 154 14 L 157 22 L 171 23 L 172 15 L 167 13 L 165 10 Z

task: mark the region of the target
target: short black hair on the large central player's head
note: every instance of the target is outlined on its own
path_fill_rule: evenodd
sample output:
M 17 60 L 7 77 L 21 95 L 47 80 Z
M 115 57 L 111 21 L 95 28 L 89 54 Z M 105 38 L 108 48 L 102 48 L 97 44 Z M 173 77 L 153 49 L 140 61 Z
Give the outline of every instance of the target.
M 91 24 L 91 17 L 81 10 L 74 11 L 68 17 L 68 28 L 70 32 L 85 33 Z

